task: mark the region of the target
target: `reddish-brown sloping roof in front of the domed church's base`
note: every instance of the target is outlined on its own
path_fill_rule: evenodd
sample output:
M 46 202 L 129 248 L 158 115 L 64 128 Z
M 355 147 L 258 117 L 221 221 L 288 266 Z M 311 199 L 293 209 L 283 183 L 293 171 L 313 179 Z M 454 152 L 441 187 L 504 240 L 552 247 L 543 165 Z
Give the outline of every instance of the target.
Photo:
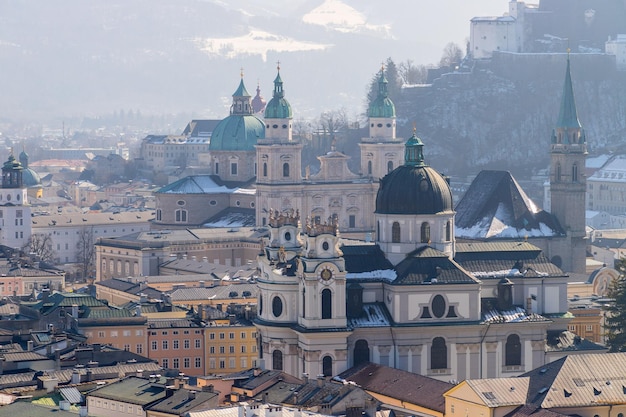
M 421 405 L 443 413 L 443 394 L 454 385 L 412 372 L 364 363 L 342 372 L 340 380 L 353 381 L 366 391 Z

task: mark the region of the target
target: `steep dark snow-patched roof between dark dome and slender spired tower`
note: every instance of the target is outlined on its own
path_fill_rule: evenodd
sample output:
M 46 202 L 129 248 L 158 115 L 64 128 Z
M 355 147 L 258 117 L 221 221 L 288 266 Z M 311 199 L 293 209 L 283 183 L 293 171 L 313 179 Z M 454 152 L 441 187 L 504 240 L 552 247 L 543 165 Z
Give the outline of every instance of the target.
M 503 225 L 505 227 L 503 227 Z M 456 206 L 457 238 L 523 238 L 565 234 L 508 171 L 481 171 Z

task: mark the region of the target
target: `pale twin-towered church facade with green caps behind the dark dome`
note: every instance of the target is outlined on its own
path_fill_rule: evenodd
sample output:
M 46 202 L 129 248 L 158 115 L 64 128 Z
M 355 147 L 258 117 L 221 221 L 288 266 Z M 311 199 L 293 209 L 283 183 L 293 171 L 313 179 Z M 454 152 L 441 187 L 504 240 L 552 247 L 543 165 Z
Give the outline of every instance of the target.
M 378 95 L 368 110 L 369 137 L 363 138 L 361 173 L 348 168 L 349 157 L 332 146 L 318 156 L 320 170 L 305 169 L 303 144 L 293 136 L 293 111 L 285 98 L 280 69 L 271 100 L 265 107 L 265 137 L 256 144 L 256 221 L 268 224 L 270 210 L 297 210 L 313 221 L 338 219 L 346 236 L 364 238 L 375 229 L 372 208 L 380 178 L 402 164 L 403 141 L 396 137 L 396 113 L 381 70 Z

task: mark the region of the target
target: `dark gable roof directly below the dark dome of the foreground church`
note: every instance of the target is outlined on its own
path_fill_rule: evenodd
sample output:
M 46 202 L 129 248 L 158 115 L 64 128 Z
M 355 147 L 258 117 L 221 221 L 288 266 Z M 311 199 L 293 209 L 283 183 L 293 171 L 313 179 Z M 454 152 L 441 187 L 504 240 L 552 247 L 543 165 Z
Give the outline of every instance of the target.
M 478 281 L 447 254 L 423 246 L 408 254 L 396 265 L 394 285 L 476 284 Z

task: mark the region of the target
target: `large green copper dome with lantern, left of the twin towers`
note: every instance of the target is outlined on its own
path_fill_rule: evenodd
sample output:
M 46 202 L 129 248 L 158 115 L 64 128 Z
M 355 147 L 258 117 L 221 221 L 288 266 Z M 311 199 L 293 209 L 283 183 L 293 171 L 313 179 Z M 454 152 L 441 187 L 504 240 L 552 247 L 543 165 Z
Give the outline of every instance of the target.
M 254 151 L 258 139 L 265 137 L 265 124 L 253 114 L 251 96 L 243 78 L 233 93 L 230 116 L 223 119 L 213 130 L 209 150 Z

